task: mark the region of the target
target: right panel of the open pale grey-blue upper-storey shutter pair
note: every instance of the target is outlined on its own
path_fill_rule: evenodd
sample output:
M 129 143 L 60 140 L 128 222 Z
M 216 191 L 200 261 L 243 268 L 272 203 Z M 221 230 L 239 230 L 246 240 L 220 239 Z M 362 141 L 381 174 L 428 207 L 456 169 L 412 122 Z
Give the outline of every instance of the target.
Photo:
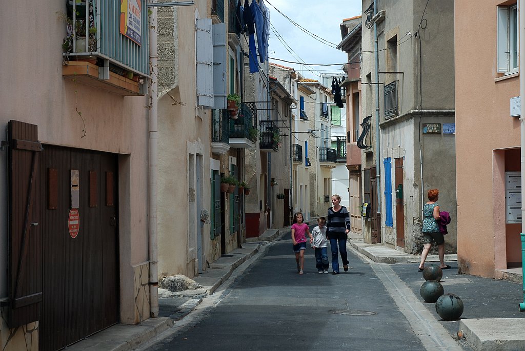
M 213 25 L 213 108 L 226 108 L 226 24 Z

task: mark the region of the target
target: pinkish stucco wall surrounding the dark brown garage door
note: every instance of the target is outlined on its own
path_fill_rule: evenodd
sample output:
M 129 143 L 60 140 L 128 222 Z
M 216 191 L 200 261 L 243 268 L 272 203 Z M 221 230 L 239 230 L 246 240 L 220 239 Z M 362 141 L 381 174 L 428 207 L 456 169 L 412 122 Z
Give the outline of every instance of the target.
M 146 97 L 121 97 L 62 78 L 61 44 L 66 25 L 57 12 L 65 11 L 64 2 L 58 0 L 4 4 L 0 40 L 10 44 L 8 50 L 0 50 L 0 125 L 5 127 L 9 120 L 33 123 L 38 125 L 43 144 L 120 155 L 120 318 L 123 323 L 138 323 L 149 317 L 144 312 L 149 311 L 149 300 L 138 313 L 133 284 L 135 265 L 148 261 L 148 102 Z M 0 156 L 2 169 L 6 169 L 5 154 Z M 0 184 L 7 188 L 5 172 L 0 175 Z M 3 213 L 6 196 L 5 191 L 0 193 Z M 0 217 L 4 228 L 5 220 Z M 7 295 L 6 242 L 4 232 L 0 238 L 4 268 L 0 269 L 0 297 Z M 31 331 L 38 323 L 18 329 L 7 329 L 1 318 L 0 323 L 0 348 L 36 349 L 37 333 Z

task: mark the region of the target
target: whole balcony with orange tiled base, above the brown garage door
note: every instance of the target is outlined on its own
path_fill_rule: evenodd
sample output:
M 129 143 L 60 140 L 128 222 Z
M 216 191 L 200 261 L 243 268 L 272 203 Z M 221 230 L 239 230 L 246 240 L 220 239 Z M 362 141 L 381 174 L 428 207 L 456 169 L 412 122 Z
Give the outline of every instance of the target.
M 122 96 L 143 95 L 149 77 L 148 2 L 120 32 L 120 2 L 70 0 L 59 13 L 66 25 L 62 76 Z M 86 10 L 88 8 L 88 10 Z

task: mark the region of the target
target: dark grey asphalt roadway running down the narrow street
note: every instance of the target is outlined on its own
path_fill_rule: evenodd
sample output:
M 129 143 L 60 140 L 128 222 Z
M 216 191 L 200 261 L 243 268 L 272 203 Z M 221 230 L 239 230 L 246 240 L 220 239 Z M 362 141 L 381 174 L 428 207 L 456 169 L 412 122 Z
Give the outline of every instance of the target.
M 349 261 L 348 272 L 319 274 L 307 249 L 300 275 L 282 237 L 216 305 L 148 350 L 425 350 L 370 263 L 351 251 Z

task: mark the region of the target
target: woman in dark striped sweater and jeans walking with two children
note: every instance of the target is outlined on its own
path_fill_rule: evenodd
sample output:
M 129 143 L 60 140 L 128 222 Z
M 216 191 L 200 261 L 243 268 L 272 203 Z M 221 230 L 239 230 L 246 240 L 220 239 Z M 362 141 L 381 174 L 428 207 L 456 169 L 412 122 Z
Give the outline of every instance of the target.
M 339 274 L 339 257 L 337 247 L 339 244 L 339 253 L 343 261 L 344 271 L 348 271 L 348 259 L 346 253 L 346 239 L 350 231 L 350 215 L 346 207 L 340 205 L 341 196 L 332 195 L 333 207 L 328 209 L 327 220 L 327 238 L 330 240 L 332 249 L 332 274 Z

